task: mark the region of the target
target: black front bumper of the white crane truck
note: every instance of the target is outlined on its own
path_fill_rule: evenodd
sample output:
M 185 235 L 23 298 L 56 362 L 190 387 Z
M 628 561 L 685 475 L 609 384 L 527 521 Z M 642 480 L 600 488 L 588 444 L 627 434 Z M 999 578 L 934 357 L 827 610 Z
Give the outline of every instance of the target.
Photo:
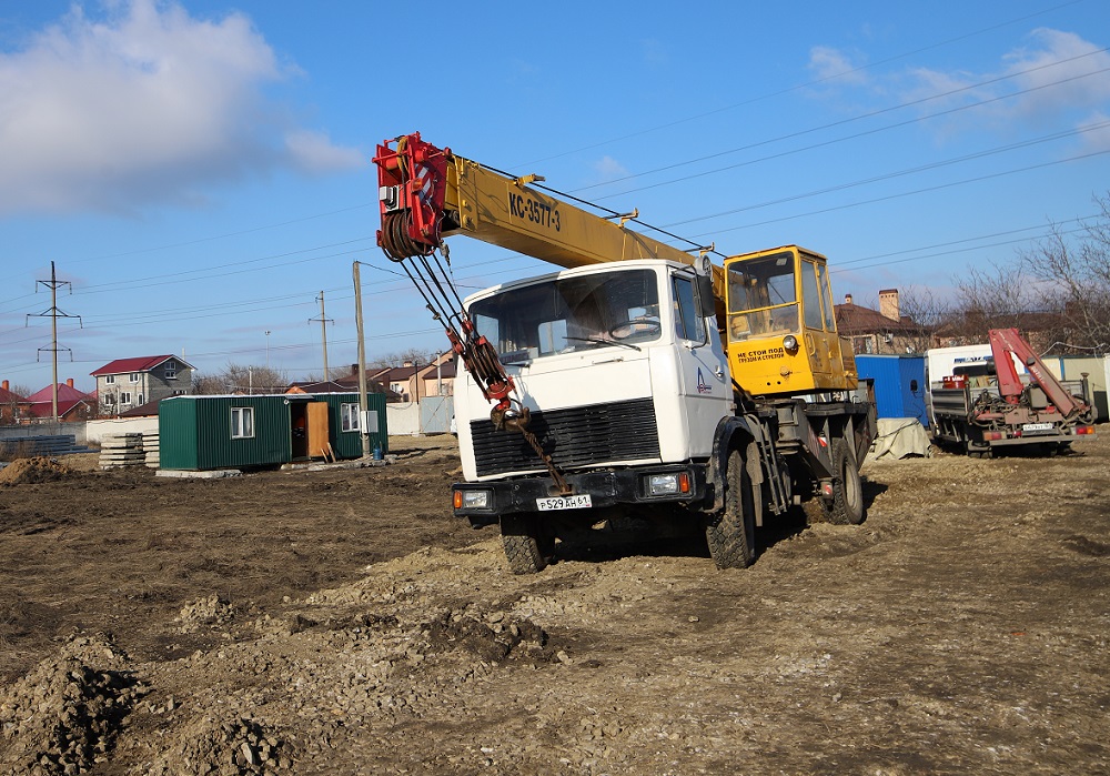
M 687 492 L 658 495 L 650 493 L 648 481 L 653 475 L 682 473 L 688 475 Z M 713 502 L 713 488 L 707 484 L 706 473 L 705 464 L 687 463 L 571 473 L 566 475 L 566 481 L 573 494 L 589 495 L 592 507 L 668 503 L 700 506 Z M 455 507 L 455 515 L 470 518 L 475 527 L 496 523 L 501 515 L 538 512 L 538 498 L 561 495 L 554 491 L 549 477 L 541 476 L 452 485 L 452 495 L 458 491 L 486 491 L 490 494 L 490 505 L 486 507 Z M 575 512 L 582 510 L 561 511 L 564 515 Z

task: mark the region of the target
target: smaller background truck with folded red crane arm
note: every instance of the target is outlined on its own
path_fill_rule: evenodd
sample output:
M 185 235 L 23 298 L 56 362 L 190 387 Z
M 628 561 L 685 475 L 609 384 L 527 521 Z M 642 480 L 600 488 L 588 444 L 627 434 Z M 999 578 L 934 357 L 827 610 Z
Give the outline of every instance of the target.
M 1061 382 L 1017 329 L 992 329 L 989 345 L 926 354 L 926 409 L 934 436 L 969 455 L 1038 445 L 1054 453 L 1094 433 L 1090 382 Z

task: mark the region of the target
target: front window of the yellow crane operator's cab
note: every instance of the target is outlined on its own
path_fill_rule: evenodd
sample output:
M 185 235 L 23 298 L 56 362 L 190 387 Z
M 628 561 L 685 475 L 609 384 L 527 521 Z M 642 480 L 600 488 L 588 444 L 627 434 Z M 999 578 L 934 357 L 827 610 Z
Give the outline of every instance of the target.
M 798 333 L 794 254 L 728 265 L 728 330 L 733 340 Z

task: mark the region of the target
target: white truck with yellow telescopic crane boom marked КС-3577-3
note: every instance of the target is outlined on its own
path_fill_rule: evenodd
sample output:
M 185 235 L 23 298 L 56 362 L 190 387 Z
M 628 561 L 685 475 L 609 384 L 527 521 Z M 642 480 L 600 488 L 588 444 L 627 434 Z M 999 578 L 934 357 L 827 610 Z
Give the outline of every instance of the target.
M 756 526 L 810 498 L 819 518 L 862 521 L 875 403 L 837 334 L 825 256 L 785 245 L 717 266 L 712 246 L 695 256 L 629 229 L 635 212 L 587 212 L 420 133 L 374 162 L 379 244 L 466 369 L 454 512 L 500 523 L 514 573 L 620 507 L 677 513 L 719 568 L 749 565 Z M 464 301 L 455 234 L 564 269 Z

